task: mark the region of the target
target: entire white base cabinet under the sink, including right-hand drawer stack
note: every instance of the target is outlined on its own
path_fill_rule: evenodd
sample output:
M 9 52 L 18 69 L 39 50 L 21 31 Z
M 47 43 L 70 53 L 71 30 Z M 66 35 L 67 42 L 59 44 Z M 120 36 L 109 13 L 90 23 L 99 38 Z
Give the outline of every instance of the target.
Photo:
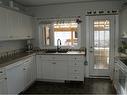
M 37 55 L 37 78 L 84 81 L 83 55 Z

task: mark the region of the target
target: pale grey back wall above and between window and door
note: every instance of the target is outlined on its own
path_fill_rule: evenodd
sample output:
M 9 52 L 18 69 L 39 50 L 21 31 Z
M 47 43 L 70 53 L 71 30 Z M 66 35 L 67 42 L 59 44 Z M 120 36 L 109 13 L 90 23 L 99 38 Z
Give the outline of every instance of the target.
M 72 4 L 47 5 L 28 8 L 29 14 L 35 17 L 59 17 L 59 16 L 81 16 L 81 46 L 85 46 L 85 12 L 86 10 L 112 10 L 119 9 L 123 2 L 120 1 L 99 1 L 99 2 L 81 2 Z M 36 31 L 37 33 L 37 31 Z M 36 35 L 36 34 L 35 34 Z M 36 37 L 38 38 L 38 37 Z

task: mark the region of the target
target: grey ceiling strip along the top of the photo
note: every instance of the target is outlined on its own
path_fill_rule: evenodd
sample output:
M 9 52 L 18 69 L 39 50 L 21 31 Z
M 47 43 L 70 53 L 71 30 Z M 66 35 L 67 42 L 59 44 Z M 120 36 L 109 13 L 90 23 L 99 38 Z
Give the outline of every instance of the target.
M 106 0 L 14 0 L 14 1 L 24 6 L 39 6 L 39 5 L 49 5 L 49 4 L 51 5 L 51 4 L 60 4 L 60 3 L 106 1 Z M 119 1 L 119 0 L 113 0 L 113 1 Z

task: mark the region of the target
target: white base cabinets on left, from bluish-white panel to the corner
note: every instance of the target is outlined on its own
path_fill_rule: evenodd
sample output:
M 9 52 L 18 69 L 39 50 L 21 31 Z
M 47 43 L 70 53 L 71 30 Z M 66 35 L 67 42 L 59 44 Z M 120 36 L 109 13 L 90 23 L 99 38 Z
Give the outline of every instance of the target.
M 35 80 L 33 56 L 14 64 L 6 67 L 8 94 L 20 93 Z

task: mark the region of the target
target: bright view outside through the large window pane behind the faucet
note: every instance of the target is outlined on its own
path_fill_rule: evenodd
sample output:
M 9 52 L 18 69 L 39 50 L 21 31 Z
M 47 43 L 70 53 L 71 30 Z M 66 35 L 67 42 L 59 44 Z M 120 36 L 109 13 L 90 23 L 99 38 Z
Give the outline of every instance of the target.
M 57 40 L 61 40 L 62 46 L 78 45 L 78 24 L 77 23 L 58 23 L 54 24 L 54 45 Z

